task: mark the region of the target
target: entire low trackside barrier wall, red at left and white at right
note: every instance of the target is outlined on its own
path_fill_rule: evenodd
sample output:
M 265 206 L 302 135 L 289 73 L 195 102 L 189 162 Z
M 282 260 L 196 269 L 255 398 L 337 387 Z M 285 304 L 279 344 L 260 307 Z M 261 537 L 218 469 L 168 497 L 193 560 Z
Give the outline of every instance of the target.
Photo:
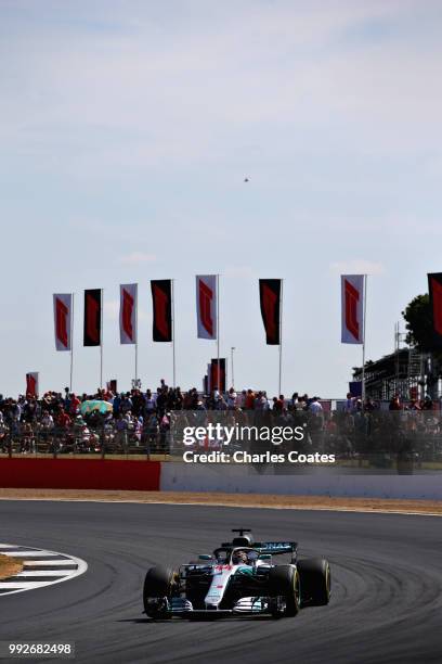
M 440 473 L 262 474 L 250 467 L 75 458 L 2 458 L 0 487 L 275 494 L 442 500 Z

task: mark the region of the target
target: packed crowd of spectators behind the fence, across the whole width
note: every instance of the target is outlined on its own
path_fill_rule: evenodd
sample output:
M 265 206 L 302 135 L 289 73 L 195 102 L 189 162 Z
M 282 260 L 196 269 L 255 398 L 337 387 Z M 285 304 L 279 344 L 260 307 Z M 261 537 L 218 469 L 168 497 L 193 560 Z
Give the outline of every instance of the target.
M 84 401 L 99 400 L 109 404 L 108 411 L 82 412 Z M 0 395 L 0 452 L 32 454 L 112 454 L 112 452 L 167 452 L 170 449 L 170 432 L 178 411 L 226 411 L 248 413 L 256 418 L 263 414 L 275 424 L 306 427 L 306 442 L 327 446 L 341 456 L 352 456 L 366 444 L 372 445 L 375 434 L 382 440 L 385 431 L 379 427 L 375 414 L 380 403 L 347 394 L 339 409 L 332 409 L 329 401 L 317 396 L 294 393 L 269 398 L 265 391 L 231 387 L 225 393 L 199 393 L 196 388 L 182 392 L 170 387 L 164 380 L 157 390 L 113 393 L 98 390 L 81 396 L 70 393 L 47 392 L 41 398 L 20 395 L 18 398 Z M 432 411 L 430 397 L 421 401 L 403 401 L 394 396 L 389 411 L 403 414 L 414 411 Z M 385 408 L 384 408 L 385 410 Z M 416 420 L 411 420 L 416 426 Z M 439 418 L 426 419 L 424 433 L 432 437 L 441 432 Z M 390 435 L 390 434 L 389 434 Z M 387 436 L 388 437 L 388 436 Z

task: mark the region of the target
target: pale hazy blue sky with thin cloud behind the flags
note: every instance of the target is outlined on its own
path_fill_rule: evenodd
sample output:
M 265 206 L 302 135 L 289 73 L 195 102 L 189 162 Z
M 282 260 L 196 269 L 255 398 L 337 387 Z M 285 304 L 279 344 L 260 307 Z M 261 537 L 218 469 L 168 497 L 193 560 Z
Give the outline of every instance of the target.
M 221 277 L 237 387 L 277 387 L 259 277 L 284 278 L 284 374 L 344 394 L 339 274 L 367 271 L 367 358 L 442 270 L 440 0 L 0 0 L 0 392 L 63 388 L 52 293 L 76 293 L 75 391 L 129 387 L 118 285 L 138 282 L 143 387 L 171 382 L 150 279 L 174 278 L 178 382 L 200 386 L 195 274 Z M 245 183 L 244 178 L 249 182 Z

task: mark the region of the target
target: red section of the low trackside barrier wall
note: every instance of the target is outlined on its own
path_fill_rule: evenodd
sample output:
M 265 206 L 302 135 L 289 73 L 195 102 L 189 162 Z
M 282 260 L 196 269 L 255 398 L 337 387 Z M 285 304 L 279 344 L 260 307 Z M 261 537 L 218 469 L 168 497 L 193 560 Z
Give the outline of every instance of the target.
M 160 472 L 159 461 L 6 458 L 0 459 L 0 486 L 158 491 Z

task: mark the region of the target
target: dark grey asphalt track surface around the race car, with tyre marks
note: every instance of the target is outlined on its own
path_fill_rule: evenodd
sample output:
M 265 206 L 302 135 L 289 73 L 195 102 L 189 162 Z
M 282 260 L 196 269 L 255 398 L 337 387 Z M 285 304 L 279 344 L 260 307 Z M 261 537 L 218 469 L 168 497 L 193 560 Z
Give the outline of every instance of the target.
M 89 564 L 58 586 L 0 598 L 1 640 L 75 641 L 75 661 L 88 664 L 442 662 L 442 518 L 4 501 L 0 524 L 2 541 Z M 301 556 L 328 558 L 329 605 L 280 621 L 142 615 L 147 567 L 209 552 L 235 526 L 261 539 L 295 538 Z

